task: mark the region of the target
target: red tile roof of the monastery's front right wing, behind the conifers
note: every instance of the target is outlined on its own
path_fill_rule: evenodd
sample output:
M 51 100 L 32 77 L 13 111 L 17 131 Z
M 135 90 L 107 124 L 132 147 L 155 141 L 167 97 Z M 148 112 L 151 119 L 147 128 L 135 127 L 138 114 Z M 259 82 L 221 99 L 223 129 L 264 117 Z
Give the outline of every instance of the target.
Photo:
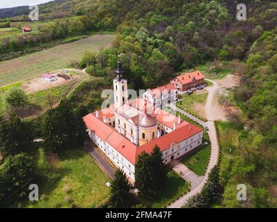
M 138 157 L 143 151 L 145 151 L 146 153 L 151 153 L 154 146 L 156 145 L 159 146 L 161 151 L 165 151 L 166 149 L 170 148 L 172 144 L 179 143 L 184 139 L 192 137 L 202 130 L 202 128 L 199 128 L 192 123 L 188 123 L 188 125 L 177 128 L 177 130 L 173 131 L 172 133 L 168 133 L 157 139 L 151 140 L 148 144 L 139 146 L 136 149 L 136 157 Z

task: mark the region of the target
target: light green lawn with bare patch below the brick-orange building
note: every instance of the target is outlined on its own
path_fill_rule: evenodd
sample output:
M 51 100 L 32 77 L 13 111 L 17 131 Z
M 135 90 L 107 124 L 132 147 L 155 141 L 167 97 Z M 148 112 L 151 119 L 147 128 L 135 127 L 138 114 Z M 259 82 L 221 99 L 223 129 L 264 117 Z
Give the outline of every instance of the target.
M 176 106 L 178 108 L 181 108 L 182 110 L 192 113 L 195 117 L 206 119 L 204 117 L 204 111 L 199 112 L 199 107 L 197 107 L 197 105 L 204 105 L 206 103 L 206 100 L 208 98 L 208 93 L 203 93 L 203 94 L 193 93 L 190 95 L 184 94 L 181 96 L 181 98 L 183 100 L 176 103 Z

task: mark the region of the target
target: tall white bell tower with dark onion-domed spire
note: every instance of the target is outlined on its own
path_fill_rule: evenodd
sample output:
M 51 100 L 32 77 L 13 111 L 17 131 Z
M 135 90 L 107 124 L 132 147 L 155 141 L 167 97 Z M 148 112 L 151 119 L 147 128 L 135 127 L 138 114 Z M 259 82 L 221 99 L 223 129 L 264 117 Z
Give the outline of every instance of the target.
M 116 78 L 114 78 L 114 108 L 118 108 L 123 103 L 127 102 L 127 80 L 123 78 L 123 69 L 118 55 L 117 68 L 115 71 Z

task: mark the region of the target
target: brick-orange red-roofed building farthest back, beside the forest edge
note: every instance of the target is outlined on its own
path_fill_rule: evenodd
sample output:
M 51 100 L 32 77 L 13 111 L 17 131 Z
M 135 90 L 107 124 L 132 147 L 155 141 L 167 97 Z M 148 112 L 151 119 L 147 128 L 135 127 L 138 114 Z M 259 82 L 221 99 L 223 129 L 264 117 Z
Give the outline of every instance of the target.
M 197 87 L 204 85 L 205 76 L 200 71 L 194 71 L 189 74 L 184 73 L 177 76 L 170 83 L 175 85 L 180 92 L 187 92 L 188 90 L 197 89 Z

